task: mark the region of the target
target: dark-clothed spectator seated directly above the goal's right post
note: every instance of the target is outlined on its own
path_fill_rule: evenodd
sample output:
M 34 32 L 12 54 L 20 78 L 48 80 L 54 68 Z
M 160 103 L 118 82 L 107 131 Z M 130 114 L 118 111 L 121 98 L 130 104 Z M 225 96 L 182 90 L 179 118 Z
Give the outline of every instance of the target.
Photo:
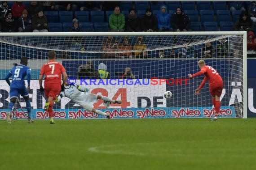
M 234 31 L 251 31 L 254 25 L 252 19 L 248 16 L 246 11 L 242 11 L 240 18 L 234 23 Z

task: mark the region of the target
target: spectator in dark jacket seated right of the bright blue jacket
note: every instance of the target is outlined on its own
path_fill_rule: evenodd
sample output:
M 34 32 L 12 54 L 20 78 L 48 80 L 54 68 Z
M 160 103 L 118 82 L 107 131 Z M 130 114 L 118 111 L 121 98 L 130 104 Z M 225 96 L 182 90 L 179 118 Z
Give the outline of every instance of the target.
M 182 12 L 182 9 L 178 7 L 176 13 L 172 14 L 171 25 L 174 31 L 191 31 L 190 30 L 190 18 Z

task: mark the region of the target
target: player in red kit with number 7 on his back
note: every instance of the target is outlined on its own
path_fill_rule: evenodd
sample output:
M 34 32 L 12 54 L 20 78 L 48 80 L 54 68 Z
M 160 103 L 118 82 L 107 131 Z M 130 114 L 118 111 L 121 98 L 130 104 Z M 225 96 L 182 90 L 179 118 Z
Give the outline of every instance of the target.
M 55 61 L 56 53 L 54 51 L 50 51 L 48 53 L 49 62 L 45 63 L 40 72 L 39 76 L 39 85 L 40 92 L 45 93 L 45 97 L 48 98 L 49 107 L 46 110 L 49 113 L 50 123 L 54 124 L 53 120 L 53 104 L 54 100 L 57 98 L 58 94 L 61 92 L 62 85 L 66 82 L 67 74 L 65 68 L 62 64 Z M 42 86 L 43 76 L 44 78 L 44 88 Z M 63 75 L 63 82 L 62 76 Z

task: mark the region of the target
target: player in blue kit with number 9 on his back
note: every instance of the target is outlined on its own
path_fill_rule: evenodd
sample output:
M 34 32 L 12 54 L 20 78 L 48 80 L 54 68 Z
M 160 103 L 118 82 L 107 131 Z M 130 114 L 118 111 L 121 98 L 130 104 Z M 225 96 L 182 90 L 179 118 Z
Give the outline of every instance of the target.
M 28 92 L 30 91 L 30 74 L 31 74 L 31 69 L 27 67 L 27 59 L 26 57 L 22 57 L 20 64 L 14 66 L 5 77 L 5 81 L 10 86 L 10 103 L 9 103 L 8 112 L 7 112 L 8 123 L 12 123 L 11 111 L 16 100 L 18 99 L 19 94 L 26 101 L 28 123 L 34 122 L 34 120 L 31 119 L 31 103 L 28 97 Z M 27 88 L 24 81 L 25 76 L 27 77 Z M 10 77 L 12 77 L 12 82 L 9 81 Z

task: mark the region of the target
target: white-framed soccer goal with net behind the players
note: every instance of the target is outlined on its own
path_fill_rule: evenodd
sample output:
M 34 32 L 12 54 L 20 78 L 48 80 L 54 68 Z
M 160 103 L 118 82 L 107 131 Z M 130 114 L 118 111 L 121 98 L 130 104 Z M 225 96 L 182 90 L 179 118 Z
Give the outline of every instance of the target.
M 111 118 L 212 117 L 215 109 L 208 83 L 194 95 L 204 76 L 187 76 L 200 71 L 200 59 L 224 81 L 220 117 L 247 118 L 246 38 L 246 32 L 0 33 L 0 119 L 9 103 L 4 77 L 22 56 L 32 69 L 29 97 L 34 119 L 47 118 L 38 77 L 49 51 L 57 53 L 72 82 L 87 86 L 90 93 L 122 100 L 109 108 L 102 100 L 93 104 Z M 170 99 L 164 98 L 166 91 L 172 93 Z M 19 101 L 14 114 L 25 118 L 20 109 L 25 102 Z M 103 118 L 66 97 L 53 109 L 57 119 Z

